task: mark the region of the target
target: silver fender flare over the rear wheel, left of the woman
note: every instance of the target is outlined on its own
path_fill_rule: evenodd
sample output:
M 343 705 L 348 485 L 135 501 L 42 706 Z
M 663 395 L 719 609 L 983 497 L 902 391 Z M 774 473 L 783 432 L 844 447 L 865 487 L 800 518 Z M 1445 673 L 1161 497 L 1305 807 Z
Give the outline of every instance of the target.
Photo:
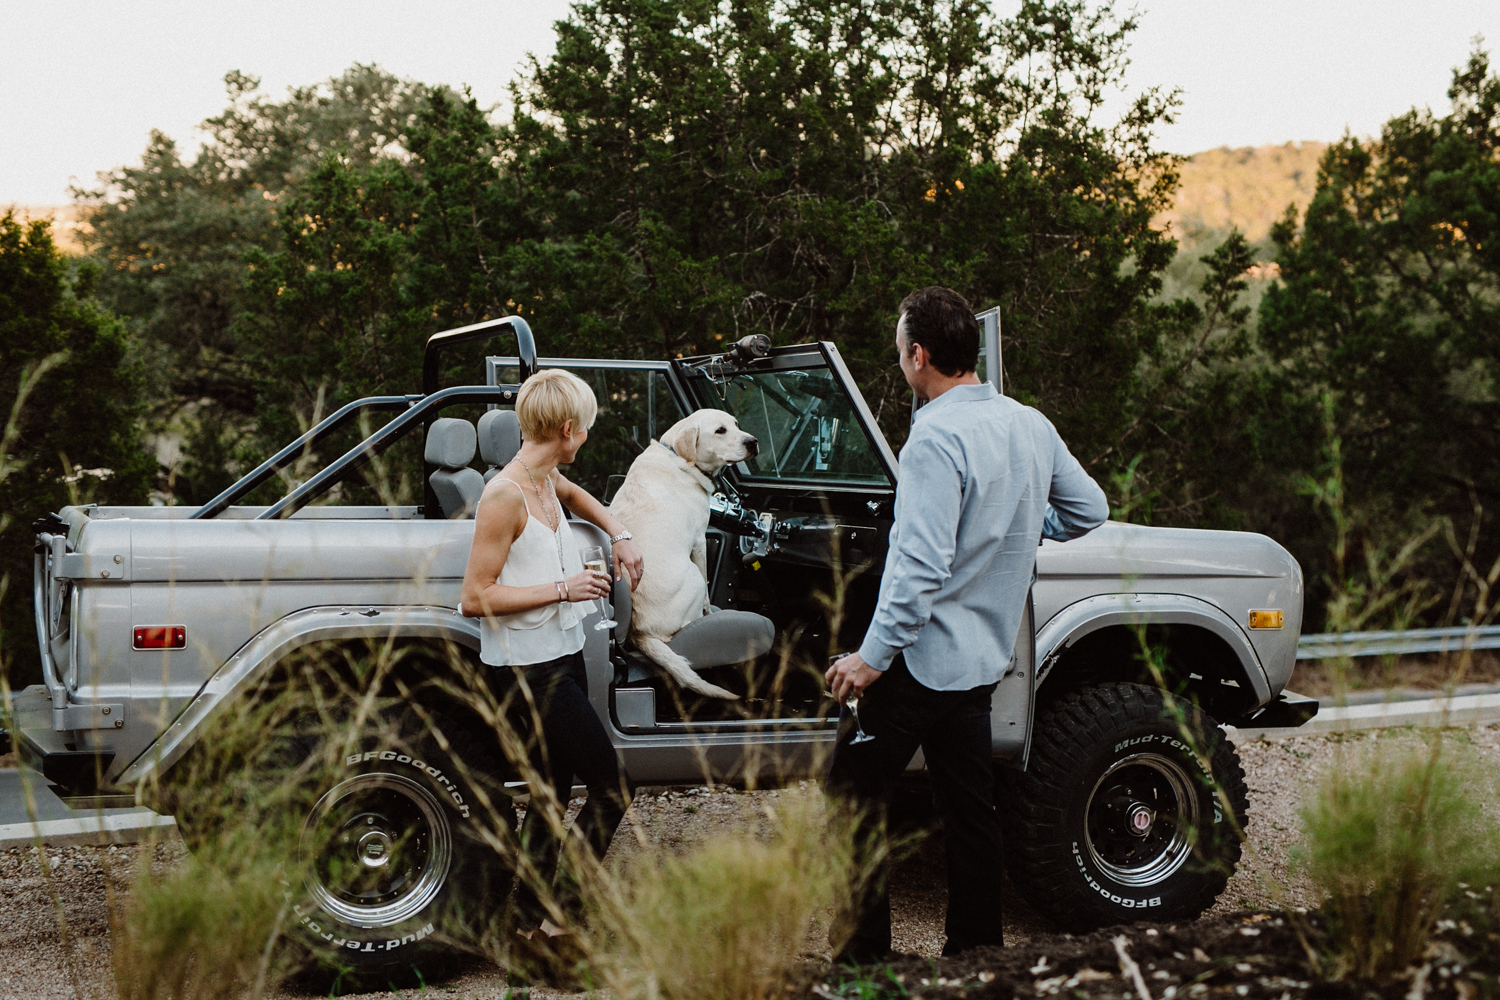
M 136 784 L 182 760 L 204 729 L 226 712 L 291 651 L 340 639 L 446 639 L 478 651 L 478 621 L 452 607 L 354 606 L 306 607 L 267 625 L 230 657 L 198 690 L 146 751 L 120 774 L 122 786 Z

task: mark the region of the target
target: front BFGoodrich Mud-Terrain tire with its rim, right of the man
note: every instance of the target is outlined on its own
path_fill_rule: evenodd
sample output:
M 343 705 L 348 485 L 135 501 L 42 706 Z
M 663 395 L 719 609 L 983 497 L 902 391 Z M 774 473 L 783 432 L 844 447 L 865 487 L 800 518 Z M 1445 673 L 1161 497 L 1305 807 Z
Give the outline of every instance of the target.
M 1209 715 L 1142 684 L 1100 684 L 1038 714 L 1010 772 L 1011 879 L 1071 931 L 1203 913 L 1239 862 L 1248 793 Z M 1227 805 L 1227 808 L 1226 808 Z

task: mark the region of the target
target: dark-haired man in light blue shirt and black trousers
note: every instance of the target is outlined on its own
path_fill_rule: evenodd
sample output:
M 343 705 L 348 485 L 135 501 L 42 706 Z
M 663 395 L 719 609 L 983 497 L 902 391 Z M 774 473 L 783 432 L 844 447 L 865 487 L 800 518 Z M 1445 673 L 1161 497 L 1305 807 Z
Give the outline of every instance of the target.
M 927 405 L 902 448 L 874 618 L 860 652 L 828 669 L 838 702 L 860 699 L 873 739 L 852 741 L 844 726 L 828 792 L 861 811 L 858 847 L 876 850 L 896 780 L 922 750 L 946 838 L 944 955 L 956 955 L 1004 943 L 990 697 L 1016 649 L 1036 546 L 1098 528 L 1108 505 L 1046 417 L 980 382 L 980 325 L 962 295 L 908 295 L 896 352 Z M 880 864 L 840 913 L 840 963 L 890 954 L 888 874 Z

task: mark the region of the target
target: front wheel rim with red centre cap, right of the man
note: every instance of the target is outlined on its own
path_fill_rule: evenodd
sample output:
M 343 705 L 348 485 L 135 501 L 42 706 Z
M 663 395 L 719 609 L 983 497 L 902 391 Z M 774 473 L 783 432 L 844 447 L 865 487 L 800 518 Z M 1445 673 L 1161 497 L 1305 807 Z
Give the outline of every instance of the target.
M 1095 867 L 1124 886 L 1155 886 L 1192 855 L 1198 796 L 1179 762 L 1131 754 L 1094 784 L 1084 817 Z

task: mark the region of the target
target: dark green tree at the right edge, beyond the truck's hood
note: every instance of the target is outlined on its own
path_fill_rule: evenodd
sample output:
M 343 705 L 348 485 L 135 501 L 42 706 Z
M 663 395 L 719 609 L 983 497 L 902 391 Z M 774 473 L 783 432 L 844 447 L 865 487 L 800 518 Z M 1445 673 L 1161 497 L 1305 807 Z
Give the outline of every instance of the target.
M 1258 330 L 1293 403 L 1282 468 L 1311 474 L 1336 448 L 1356 550 L 1394 552 L 1432 517 L 1462 537 L 1478 502 L 1474 561 L 1488 565 L 1500 547 L 1500 76 L 1484 51 L 1449 97 L 1446 115 L 1413 109 L 1378 139 L 1329 147 L 1300 226 L 1288 211 L 1272 231 L 1281 282 Z M 1332 531 L 1304 550 L 1328 552 Z M 1446 556 L 1432 546 L 1413 573 L 1446 592 L 1458 576 Z

